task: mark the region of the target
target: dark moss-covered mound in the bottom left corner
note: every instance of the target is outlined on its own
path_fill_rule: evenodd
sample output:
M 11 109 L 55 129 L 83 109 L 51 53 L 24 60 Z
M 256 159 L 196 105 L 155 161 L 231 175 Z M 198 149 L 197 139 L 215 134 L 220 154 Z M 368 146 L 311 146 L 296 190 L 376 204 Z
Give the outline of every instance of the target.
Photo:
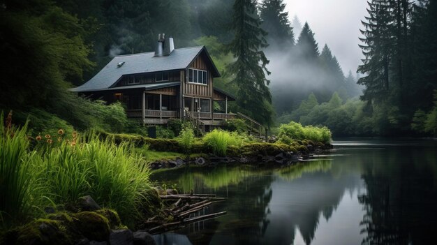
M 40 218 L 27 225 L 9 230 L 0 244 L 74 244 L 62 221 Z

